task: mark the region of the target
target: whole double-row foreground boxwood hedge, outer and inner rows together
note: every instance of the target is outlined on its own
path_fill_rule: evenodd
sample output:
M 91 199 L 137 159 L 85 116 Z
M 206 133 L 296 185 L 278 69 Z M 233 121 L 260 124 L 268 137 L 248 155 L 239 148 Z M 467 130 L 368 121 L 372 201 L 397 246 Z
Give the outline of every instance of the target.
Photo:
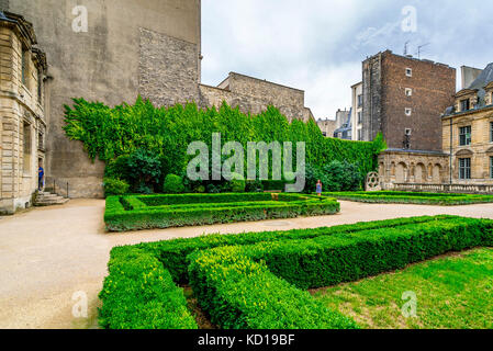
M 302 290 L 475 246 L 493 246 L 492 220 L 415 217 L 117 247 L 100 294 L 100 322 L 105 328 L 195 328 L 175 285 L 190 283 L 223 328 L 356 328 Z

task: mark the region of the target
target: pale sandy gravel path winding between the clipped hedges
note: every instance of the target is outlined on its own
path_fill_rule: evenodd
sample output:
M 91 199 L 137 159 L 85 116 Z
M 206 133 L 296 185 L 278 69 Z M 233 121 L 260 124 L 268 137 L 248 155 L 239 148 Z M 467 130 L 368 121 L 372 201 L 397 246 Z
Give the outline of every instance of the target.
M 460 207 L 341 202 L 335 216 L 105 234 L 104 201 L 74 200 L 59 207 L 0 217 L 0 328 L 91 328 L 112 247 L 211 233 L 314 228 L 452 214 L 493 219 L 493 204 Z M 88 318 L 72 316 L 74 293 L 88 296 Z

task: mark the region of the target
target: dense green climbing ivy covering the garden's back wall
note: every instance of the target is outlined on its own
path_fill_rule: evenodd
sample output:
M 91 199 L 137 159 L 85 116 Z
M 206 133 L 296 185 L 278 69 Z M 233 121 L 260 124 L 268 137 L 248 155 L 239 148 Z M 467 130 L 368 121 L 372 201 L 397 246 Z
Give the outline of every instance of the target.
M 377 156 L 386 147 L 381 135 L 371 143 L 325 138 L 314 121 L 290 123 L 273 106 L 250 115 L 226 103 L 219 109 L 199 109 L 194 103 L 156 107 L 137 98 L 134 104 L 110 107 L 74 99 L 72 106 L 65 106 L 65 122 L 67 136 L 82 141 L 91 159 L 108 163 L 147 149 L 161 157 L 166 173 L 175 174 L 182 174 L 190 161 L 188 145 L 201 140 L 211 147 L 213 133 L 221 133 L 223 145 L 235 140 L 245 149 L 248 141 L 305 141 L 306 162 L 323 168 L 333 160 L 346 161 L 362 174 L 377 168 Z

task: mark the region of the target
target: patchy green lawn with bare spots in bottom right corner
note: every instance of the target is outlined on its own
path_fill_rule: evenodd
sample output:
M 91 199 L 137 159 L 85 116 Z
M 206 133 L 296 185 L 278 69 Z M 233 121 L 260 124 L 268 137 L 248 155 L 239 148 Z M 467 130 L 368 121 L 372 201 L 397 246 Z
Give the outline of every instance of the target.
M 417 317 L 404 318 L 404 292 L 417 295 Z M 363 328 L 492 329 L 493 249 L 417 263 L 395 273 L 320 290 L 317 301 Z

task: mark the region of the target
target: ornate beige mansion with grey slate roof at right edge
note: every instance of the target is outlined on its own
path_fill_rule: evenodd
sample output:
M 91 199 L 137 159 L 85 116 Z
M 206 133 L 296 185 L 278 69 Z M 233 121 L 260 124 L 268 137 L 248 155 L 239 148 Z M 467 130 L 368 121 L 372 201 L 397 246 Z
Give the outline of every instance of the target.
M 493 64 L 456 94 L 441 122 L 452 182 L 493 185 Z

